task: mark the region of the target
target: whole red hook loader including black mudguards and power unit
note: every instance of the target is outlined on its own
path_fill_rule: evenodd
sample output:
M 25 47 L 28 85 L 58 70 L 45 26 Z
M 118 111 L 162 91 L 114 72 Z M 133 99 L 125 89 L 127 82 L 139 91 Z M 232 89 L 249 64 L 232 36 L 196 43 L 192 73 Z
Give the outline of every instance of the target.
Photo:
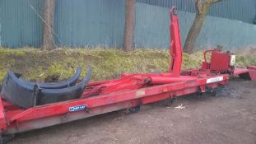
M 170 12 L 170 68 L 158 74 L 126 74 L 119 79 L 89 82 L 87 76 L 76 83 L 77 75 L 59 83 L 33 83 L 7 72 L 0 98 L 0 143 L 15 133 L 45 128 L 60 123 L 105 114 L 119 109 L 133 113 L 140 105 L 173 99 L 192 93 L 215 92 L 229 83 L 231 76 L 256 79 L 256 67 L 235 67 L 235 55 L 219 49 L 207 50 L 202 67 L 181 71 L 182 46 L 179 18 L 175 7 Z

